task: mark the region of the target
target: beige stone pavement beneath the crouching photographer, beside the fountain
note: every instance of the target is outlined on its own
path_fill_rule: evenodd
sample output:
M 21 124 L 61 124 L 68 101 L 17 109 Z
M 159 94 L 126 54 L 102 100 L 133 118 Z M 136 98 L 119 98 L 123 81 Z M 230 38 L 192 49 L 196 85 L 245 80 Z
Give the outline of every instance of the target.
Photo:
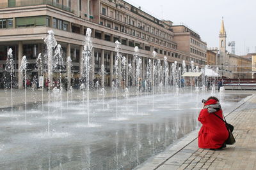
M 198 148 L 197 129 L 136 169 L 256 169 L 256 94 L 251 92 L 253 96 L 225 114 L 234 125 L 234 145 L 223 150 Z

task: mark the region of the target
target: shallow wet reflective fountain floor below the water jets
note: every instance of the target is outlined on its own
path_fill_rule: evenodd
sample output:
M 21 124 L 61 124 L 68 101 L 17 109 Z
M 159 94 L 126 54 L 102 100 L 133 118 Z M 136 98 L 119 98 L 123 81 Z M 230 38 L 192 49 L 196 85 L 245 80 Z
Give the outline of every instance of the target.
M 163 94 L 90 103 L 90 125 L 81 101 L 50 104 L 51 134 L 47 135 L 48 106 L 30 104 L 28 124 L 24 106 L 0 112 L 1 169 L 132 169 L 200 126 L 201 100 L 210 94 Z M 230 111 L 248 94 L 226 94 Z M 104 108 L 103 108 L 104 107 Z M 61 111 L 60 111 L 61 109 Z M 60 113 L 61 112 L 61 113 Z

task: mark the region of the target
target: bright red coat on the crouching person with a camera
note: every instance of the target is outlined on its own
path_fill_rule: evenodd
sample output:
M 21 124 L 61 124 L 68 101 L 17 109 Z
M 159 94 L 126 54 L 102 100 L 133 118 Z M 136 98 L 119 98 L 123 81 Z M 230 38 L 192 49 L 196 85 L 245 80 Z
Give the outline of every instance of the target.
M 205 106 L 216 103 L 214 99 L 211 99 L 205 103 Z M 223 118 L 222 110 L 215 112 L 215 114 Z M 199 148 L 220 148 L 228 138 L 225 123 L 216 115 L 209 113 L 206 108 L 200 111 L 198 121 L 201 122 L 202 127 L 198 133 Z

